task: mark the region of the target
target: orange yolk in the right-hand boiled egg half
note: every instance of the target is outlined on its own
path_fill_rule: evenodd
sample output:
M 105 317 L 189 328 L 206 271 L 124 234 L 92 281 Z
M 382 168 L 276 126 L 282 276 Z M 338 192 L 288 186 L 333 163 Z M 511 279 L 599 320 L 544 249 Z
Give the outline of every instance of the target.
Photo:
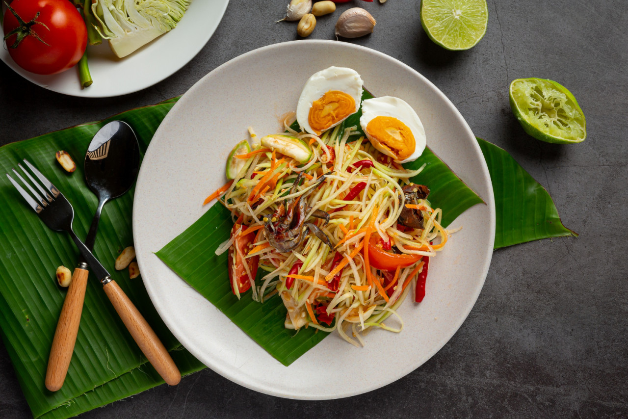
M 394 160 L 404 160 L 414 153 L 414 135 L 406 124 L 392 116 L 376 116 L 366 126 L 371 144 Z

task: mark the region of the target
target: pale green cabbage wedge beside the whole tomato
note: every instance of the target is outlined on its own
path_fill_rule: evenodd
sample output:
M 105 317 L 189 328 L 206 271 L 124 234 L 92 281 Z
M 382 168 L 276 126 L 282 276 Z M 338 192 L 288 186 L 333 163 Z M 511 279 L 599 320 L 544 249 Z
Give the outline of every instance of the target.
M 171 31 L 191 0 L 94 0 L 96 30 L 117 57 L 126 57 L 158 36 Z

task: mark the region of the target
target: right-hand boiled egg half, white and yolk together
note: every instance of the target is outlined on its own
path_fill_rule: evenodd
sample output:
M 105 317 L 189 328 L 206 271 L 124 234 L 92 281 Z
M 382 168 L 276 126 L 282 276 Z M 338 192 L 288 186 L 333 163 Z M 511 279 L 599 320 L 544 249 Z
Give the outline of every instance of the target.
M 374 97 L 362 102 L 360 126 L 377 150 L 398 163 L 416 160 L 425 150 L 421 119 L 398 97 Z

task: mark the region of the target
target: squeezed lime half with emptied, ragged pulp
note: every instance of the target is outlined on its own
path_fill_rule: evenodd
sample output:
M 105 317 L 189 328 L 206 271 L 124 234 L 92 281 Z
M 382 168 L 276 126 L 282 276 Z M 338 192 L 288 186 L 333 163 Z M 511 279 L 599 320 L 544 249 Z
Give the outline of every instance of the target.
M 580 143 L 587 138 L 585 114 L 565 86 L 553 80 L 517 79 L 510 86 L 512 113 L 524 131 L 546 143 Z

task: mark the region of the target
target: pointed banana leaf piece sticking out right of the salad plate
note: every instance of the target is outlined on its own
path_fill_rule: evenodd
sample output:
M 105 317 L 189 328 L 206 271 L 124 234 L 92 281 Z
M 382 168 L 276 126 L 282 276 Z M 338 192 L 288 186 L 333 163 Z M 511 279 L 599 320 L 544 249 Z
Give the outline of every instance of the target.
M 563 226 L 549 193 L 506 150 L 478 138 L 495 195 L 494 249 L 578 234 Z

